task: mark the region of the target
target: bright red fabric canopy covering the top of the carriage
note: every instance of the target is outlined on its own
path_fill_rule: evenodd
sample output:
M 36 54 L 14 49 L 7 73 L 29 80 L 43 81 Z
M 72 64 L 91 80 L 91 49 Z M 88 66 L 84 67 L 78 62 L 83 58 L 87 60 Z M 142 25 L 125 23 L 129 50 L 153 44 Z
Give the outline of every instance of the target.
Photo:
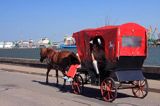
M 85 29 L 73 34 L 81 60 L 90 59 L 90 40 L 101 37 L 106 57 L 114 61 L 120 56 L 146 56 L 146 29 L 136 23 Z

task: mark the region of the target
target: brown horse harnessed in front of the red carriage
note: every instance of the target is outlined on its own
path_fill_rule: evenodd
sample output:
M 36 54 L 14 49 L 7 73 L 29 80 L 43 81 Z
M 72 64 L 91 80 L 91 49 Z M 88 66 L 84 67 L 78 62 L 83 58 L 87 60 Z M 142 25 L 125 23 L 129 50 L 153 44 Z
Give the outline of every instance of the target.
M 48 75 L 51 69 L 56 70 L 57 85 L 58 81 L 58 70 L 60 70 L 65 76 L 65 71 L 71 64 L 80 64 L 75 53 L 70 51 L 56 51 L 52 48 L 41 48 L 40 49 L 40 61 L 43 62 L 47 59 L 47 73 L 46 73 L 46 83 L 48 84 Z M 64 80 L 65 85 L 66 80 Z

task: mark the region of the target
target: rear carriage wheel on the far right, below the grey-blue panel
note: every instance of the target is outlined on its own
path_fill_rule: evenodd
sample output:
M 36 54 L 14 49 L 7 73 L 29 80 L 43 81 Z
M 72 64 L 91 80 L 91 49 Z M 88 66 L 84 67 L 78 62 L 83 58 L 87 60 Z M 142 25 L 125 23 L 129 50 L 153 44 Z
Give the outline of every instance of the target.
M 135 87 L 132 88 L 133 95 L 138 98 L 144 98 L 148 94 L 148 82 L 146 79 L 140 81 L 134 81 L 133 85 Z

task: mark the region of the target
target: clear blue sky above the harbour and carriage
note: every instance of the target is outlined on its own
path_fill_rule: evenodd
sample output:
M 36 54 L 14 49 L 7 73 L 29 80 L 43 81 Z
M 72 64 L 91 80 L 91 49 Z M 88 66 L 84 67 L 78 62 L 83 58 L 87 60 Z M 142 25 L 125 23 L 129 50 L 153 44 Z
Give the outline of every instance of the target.
M 0 41 L 63 41 L 86 28 L 135 22 L 160 28 L 160 0 L 0 0 Z

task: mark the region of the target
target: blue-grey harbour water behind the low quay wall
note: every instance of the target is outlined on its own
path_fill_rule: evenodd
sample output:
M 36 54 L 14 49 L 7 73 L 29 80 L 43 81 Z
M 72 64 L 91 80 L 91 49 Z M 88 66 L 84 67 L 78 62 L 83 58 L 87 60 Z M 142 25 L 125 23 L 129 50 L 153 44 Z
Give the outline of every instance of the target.
M 60 50 L 66 50 L 66 48 Z M 76 48 L 68 48 L 67 50 L 77 52 Z M 147 51 L 148 56 L 144 62 L 144 65 L 160 66 L 160 47 L 148 47 Z M 0 57 L 39 59 L 40 48 L 0 48 Z

